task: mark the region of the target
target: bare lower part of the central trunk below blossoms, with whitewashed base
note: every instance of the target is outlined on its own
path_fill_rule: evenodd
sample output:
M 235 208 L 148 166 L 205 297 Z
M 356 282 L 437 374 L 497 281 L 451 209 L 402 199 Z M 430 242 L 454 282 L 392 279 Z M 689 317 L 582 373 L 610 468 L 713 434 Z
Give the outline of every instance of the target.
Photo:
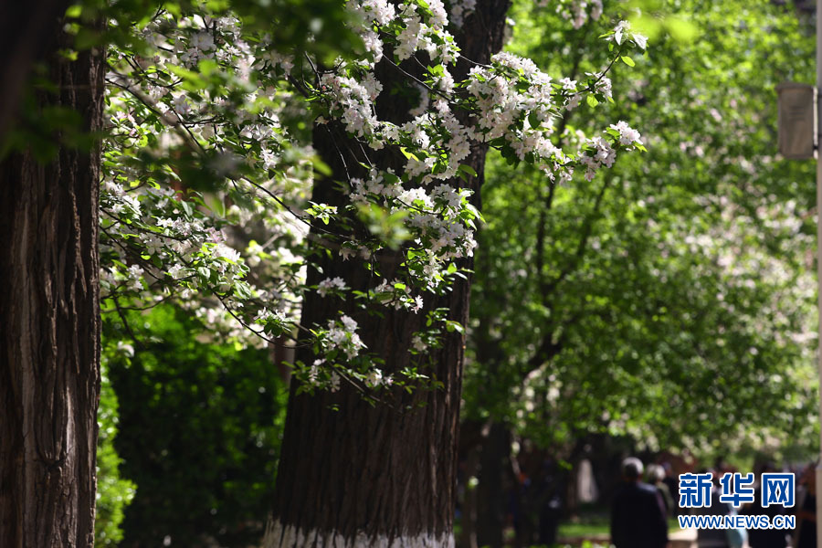
M 333 262 L 323 265 L 325 275 L 344 273 Z M 309 283 L 323 277 L 310 276 Z M 449 306 L 450 319 L 465 321 L 468 284 L 437 305 Z M 304 319 L 319 322 L 337 308 L 309 298 Z M 346 312 L 360 322 L 369 350 L 385 358 L 386 373 L 410 364 L 411 332 L 423 327 L 422 312 L 388 311 L 382 319 Z M 429 373 L 444 388 L 393 392 L 376 406 L 350 386 L 311 396 L 296 395 L 292 385 L 275 521 L 265 545 L 450 545 L 462 352 L 462 338 L 453 335 L 437 353 Z M 301 357 L 311 363 L 310 355 Z

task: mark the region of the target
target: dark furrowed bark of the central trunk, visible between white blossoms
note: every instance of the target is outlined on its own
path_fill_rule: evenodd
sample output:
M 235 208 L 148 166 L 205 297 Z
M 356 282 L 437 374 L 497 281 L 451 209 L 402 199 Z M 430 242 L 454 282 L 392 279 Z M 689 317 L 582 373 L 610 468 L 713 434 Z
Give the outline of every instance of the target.
M 479 0 L 458 37 L 466 58 L 487 63 L 501 49 L 509 4 L 509 0 Z M 458 67 L 455 78 L 469 68 L 467 63 Z M 407 120 L 409 105 L 403 94 L 388 90 L 395 85 L 410 87 L 412 82 L 385 61 L 377 67 L 377 76 L 386 90 L 377 100 L 380 117 Z M 333 181 L 346 180 L 343 160 L 349 170 L 362 160 L 351 152 L 359 148 L 347 143 L 333 124 L 318 126 L 314 144 L 334 175 L 315 184 L 312 200 L 341 204 L 342 195 Z M 479 174 L 471 182 L 477 206 L 486 152 L 486 146 L 477 145 L 465 162 Z M 381 167 L 397 164 L 385 154 L 376 157 Z M 379 282 L 354 259 L 343 262 L 336 255 L 322 256 L 318 262 L 321 272 L 309 269 L 309 284 L 341 276 L 353 290 L 365 290 Z M 393 279 L 397 262 L 383 256 L 381 277 Z M 466 260 L 461 266 L 471 264 Z M 447 308 L 450 320 L 468 320 L 469 286 L 467 280 L 446 296 L 428 295 L 425 309 L 417 314 L 386 309 L 383 317 L 365 314 L 351 300 L 341 303 L 308 295 L 302 324 L 324 325 L 339 317 L 339 311 L 350 315 L 358 322 L 369 352 L 385 359 L 384 371 L 391 374 L 409 364 L 412 333 L 422 329 L 427 311 Z M 297 395 L 296 386 L 291 386 L 266 548 L 453 546 L 463 348 L 463 338 L 453 333 L 433 356 L 433 370 L 427 373 L 436 376 L 441 389 L 416 390 L 411 395 L 398 391 L 376 406 L 366 403 L 350 385 L 337 393 L 317 395 Z M 311 364 L 314 357 L 310 350 L 300 349 L 296 359 Z

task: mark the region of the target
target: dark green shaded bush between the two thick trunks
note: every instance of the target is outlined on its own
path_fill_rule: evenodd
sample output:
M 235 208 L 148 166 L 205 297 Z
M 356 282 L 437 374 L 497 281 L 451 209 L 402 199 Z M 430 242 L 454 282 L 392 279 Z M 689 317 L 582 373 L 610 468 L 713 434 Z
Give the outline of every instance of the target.
M 114 445 L 138 486 L 124 545 L 258 542 L 286 398 L 269 352 L 200 342 L 202 323 L 170 305 L 123 317 L 107 317 L 105 332 L 120 395 Z

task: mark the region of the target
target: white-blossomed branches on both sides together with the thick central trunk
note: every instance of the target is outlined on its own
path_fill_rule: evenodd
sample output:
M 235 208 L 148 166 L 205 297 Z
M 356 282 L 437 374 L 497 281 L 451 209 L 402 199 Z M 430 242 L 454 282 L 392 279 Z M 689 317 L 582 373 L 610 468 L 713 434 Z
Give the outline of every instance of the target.
M 552 137 L 564 111 L 612 100 L 607 72 L 646 40 L 620 22 L 609 64 L 554 80 L 499 53 L 507 1 L 346 7 L 349 58 L 163 9 L 134 27 L 142 48 L 113 50 L 104 310 L 174 300 L 295 346 L 266 546 L 448 545 L 485 154 L 553 185 L 643 149 L 625 121 Z

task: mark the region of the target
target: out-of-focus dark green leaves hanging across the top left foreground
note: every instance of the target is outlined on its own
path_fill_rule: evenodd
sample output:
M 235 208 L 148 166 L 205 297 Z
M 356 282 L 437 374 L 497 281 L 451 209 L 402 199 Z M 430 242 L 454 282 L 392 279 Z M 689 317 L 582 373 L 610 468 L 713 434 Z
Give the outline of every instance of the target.
M 61 44 L 58 55 L 68 59 L 76 58 L 79 50 L 106 45 L 151 58 L 152 38 L 135 29 L 162 13 L 237 16 L 244 26 L 261 33 L 276 28 L 269 40 L 278 49 L 328 62 L 338 55 L 363 51 L 362 39 L 353 32 L 355 17 L 337 0 L 75 0 L 65 4 L 64 30 L 73 40 Z M 101 25 L 103 21 L 108 25 Z M 0 158 L 13 151 L 30 151 L 47 161 L 58 152 L 58 145 L 88 149 L 105 136 L 104 132 L 80 132 L 79 112 L 59 107 L 44 111 L 39 104 L 43 94 L 55 93 L 58 90 L 49 81 L 46 68 L 35 66 L 18 121 L 0 142 Z

